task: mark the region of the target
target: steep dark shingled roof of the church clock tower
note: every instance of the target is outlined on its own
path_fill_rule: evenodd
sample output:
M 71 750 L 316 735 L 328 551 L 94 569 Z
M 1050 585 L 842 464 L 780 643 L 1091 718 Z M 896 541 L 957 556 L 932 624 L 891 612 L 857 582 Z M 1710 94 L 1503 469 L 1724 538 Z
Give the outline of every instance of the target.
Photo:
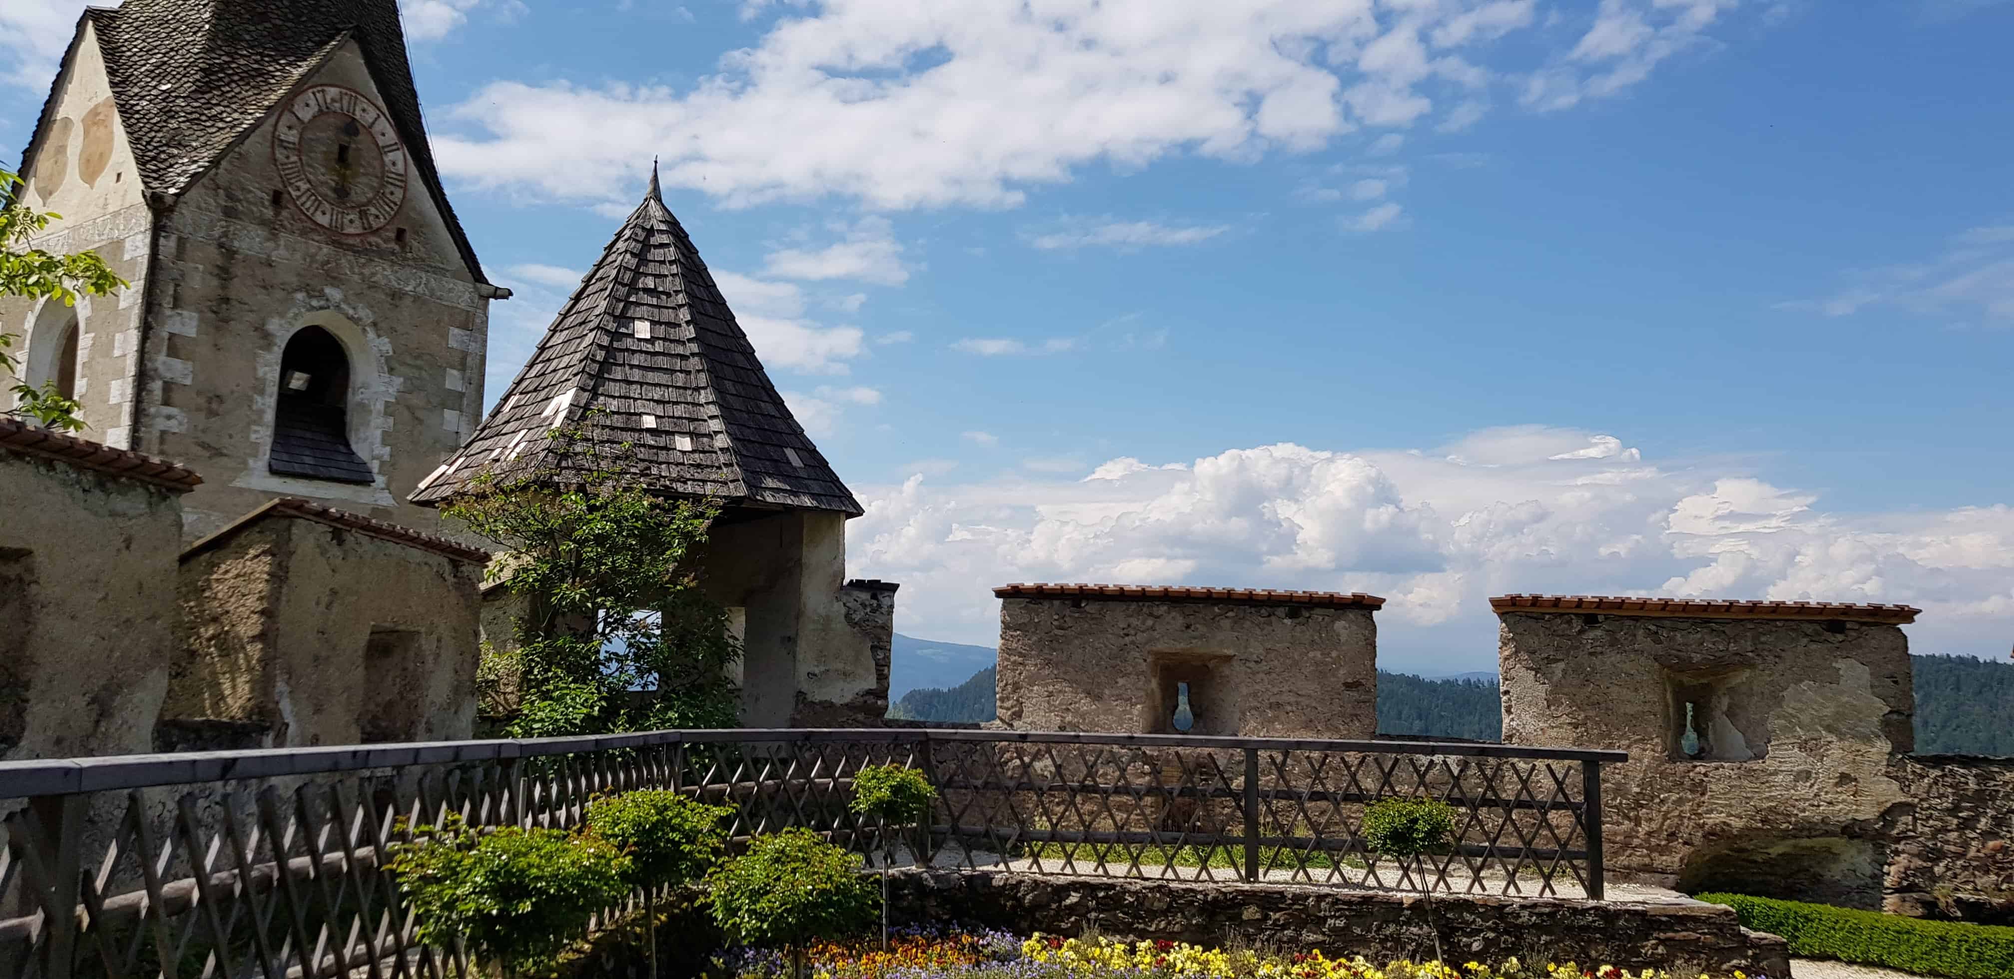
M 83 20 L 97 28 L 141 185 L 167 195 L 189 189 L 346 38 L 356 38 L 455 248 L 483 280 L 433 165 L 399 0 L 125 0 L 87 8 Z M 22 159 L 34 155 L 54 103 L 50 85 Z

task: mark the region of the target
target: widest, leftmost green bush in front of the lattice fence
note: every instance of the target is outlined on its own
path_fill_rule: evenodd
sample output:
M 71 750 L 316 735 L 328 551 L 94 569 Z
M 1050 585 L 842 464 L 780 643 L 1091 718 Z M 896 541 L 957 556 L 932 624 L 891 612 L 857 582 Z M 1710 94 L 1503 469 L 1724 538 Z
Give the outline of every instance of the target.
M 459 937 L 479 961 L 499 959 L 514 973 L 550 963 L 596 911 L 622 900 L 630 858 L 562 830 L 447 826 L 401 844 L 391 872 L 419 919 L 419 941 L 447 949 Z

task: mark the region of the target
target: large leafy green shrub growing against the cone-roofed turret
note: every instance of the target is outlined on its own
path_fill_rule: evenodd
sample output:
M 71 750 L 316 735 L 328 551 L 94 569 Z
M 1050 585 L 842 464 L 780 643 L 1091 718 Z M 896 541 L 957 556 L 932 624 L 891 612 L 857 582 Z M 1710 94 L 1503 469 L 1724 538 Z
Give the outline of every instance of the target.
M 514 707 L 514 737 L 733 727 L 741 647 L 689 568 L 719 508 L 640 490 L 628 443 L 592 425 L 548 435 L 538 471 L 479 473 L 441 510 L 508 554 L 489 574 L 528 598 L 518 649 L 485 653 L 489 703 Z M 638 689 L 655 693 L 636 705 Z

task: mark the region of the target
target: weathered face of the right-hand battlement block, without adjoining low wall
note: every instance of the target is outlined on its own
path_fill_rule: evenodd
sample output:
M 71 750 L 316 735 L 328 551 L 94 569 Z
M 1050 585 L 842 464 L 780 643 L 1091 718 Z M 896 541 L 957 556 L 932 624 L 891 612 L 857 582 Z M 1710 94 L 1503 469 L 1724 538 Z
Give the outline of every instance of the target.
M 1500 612 L 1504 741 L 1629 751 L 1603 770 L 1611 872 L 1714 886 L 1768 868 L 1869 894 L 1907 788 L 1909 645 L 1873 622 Z M 1684 705 L 1712 757 L 1682 757 Z

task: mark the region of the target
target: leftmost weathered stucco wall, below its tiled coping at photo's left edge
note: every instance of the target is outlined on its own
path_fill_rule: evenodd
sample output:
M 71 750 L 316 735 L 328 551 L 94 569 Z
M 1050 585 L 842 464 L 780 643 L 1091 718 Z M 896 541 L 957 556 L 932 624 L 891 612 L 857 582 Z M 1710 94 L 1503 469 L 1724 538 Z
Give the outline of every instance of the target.
M 175 492 L 0 449 L 0 759 L 151 747 L 173 649 Z

